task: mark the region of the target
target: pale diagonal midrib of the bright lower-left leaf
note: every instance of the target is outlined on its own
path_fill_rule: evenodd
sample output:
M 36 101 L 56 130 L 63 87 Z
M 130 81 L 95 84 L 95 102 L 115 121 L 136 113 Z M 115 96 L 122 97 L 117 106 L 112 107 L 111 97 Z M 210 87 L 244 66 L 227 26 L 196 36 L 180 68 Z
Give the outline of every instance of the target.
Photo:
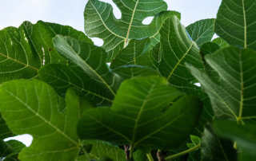
M 18 100 L 18 102 L 20 102 L 21 104 L 23 104 L 28 110 L 30 110 L 30 112 L 34 113 L 35 116 L 38 116 L 41 120 L 43 120 L 46 124 L 48 124 L 51 128 L 54 128 L 58 133 L 60 133 L 61 135 L 63 135 L 66 139 L 69 139 L 70 142 L 74 143 L 76 146 L 79 147 L 79 143 L 74 141 L 74 139 L 71 139 L 69 135 L 66 135 L 64 132 L 62 132 L 59 128 L 57 128 L 54 124 L 51 124 L 50 121 L 46 120 L 43 116 L 39 115 L 38 112 L 35 112 L 34 109 L 30 108 L 29 104 L 26 104 L 25 102 L 23 102 L 22 100 L 20 100 L 18 98 L 18 96 L 15 96 L 12 92 L 10 92 L 9 90 L 7 90 L 6 88 L 3 88 L 3 90 L 5 90 L 5 92 L 7 92 L 10 96 L 14 97 L 14 99 Z

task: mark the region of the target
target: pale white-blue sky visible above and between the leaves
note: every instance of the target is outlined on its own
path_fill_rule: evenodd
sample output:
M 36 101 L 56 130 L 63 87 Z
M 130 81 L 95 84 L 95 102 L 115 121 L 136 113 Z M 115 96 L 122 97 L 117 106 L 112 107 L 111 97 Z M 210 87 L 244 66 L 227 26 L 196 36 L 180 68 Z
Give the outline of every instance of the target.
M 102 1 L 112 2 L 111 0 Z M 221 4 L 221 0 L 164 1 L 167 2 L 169 10 L 182 13 L 182 24 L 184 26 L 200 19 L 216 18 L 218 7 Z M 18 27 L 24 21 L 35 23 L 42 20 L 72 26 L 74 29 L 83 31 L 83 11 L 86 2 L 87 0 L 0 0 L 0 29 L 8 26 Z M 95 43 L 97 45 L 101 44 L 100 41 Z M 31 142 L 29 135 L 18 137 L 18 139 L 25 140 L 27 146 Z

